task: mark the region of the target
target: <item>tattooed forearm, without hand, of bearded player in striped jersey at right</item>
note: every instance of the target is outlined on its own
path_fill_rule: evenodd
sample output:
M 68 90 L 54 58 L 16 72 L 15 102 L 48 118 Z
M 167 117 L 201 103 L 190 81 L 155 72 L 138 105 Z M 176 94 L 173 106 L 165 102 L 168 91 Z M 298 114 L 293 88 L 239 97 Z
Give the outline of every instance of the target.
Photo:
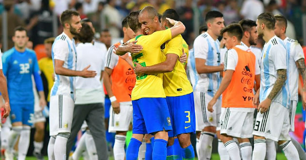
M 281 90 L 285 81 L 287 80 L 287 69 L 277 70 L 277 79 L 275 80 L 274 86 L 268 96 L 269 99 L 273 99 L 276 94 Z

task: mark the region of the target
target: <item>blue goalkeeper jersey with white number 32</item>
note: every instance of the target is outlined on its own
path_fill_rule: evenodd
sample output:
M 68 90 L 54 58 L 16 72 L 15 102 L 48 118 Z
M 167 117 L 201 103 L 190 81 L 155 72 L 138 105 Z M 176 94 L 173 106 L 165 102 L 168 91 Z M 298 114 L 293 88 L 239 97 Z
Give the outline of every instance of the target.
M 15 48 L 11 48 L 4 52 L 2 61 L 10 101 L 33 103 L 32 74 L 35 70 L 39 70 L 35 52 L 26 49 L 20 53 Z

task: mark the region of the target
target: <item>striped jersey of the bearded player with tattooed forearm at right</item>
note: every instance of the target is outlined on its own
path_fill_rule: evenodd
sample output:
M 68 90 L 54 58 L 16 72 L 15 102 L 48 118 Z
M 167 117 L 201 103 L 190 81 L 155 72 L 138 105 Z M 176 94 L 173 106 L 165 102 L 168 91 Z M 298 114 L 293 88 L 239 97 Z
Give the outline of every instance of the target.
M 271 92 L 277 79 L 277 70 L 288 69 L 288 54 L 284 41 L 273 36 L 262 50 L 261 57 L 261 80 L 260 80 L 260 101 L 263 101 Z M 288 72 L 288 70 L 287 70 Z M 288 74 L 287 74 L 288 75 Z M 287 76 L 288 77 L 288 76 Z M 288 107 L 289 84 L 285 81 L 282 89 L 277 93 L 272 101 L 279 102 Z

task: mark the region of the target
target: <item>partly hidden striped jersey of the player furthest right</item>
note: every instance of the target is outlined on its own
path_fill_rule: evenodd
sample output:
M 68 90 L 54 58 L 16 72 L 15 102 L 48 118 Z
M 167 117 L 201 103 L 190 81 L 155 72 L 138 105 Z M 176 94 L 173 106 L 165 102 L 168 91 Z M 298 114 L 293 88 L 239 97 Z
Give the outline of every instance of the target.
M 298 100 L 298 79 L 299 79 L 299 71 L 295 64 L 295 62 L 301 58 L 304 58 L 303 49 L 301 45 L 293 39 L 286 37 L 284 39 L 287 53 L 289 54 L 289 67 L 288 76 L 289 81 L 289 90 L 290 90 L 290 99 L 291 100 Z

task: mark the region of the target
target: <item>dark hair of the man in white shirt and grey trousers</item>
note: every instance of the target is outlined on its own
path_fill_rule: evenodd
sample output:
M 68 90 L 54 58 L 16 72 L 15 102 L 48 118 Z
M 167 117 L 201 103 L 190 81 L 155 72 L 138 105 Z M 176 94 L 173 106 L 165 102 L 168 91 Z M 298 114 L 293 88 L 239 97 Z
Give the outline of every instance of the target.
M 78 40 L 82 43 L 91 43 L 94 38 L 95 33 L 92 31 L 91 27 L 83 22 L 81 32 L 76 35 Z

